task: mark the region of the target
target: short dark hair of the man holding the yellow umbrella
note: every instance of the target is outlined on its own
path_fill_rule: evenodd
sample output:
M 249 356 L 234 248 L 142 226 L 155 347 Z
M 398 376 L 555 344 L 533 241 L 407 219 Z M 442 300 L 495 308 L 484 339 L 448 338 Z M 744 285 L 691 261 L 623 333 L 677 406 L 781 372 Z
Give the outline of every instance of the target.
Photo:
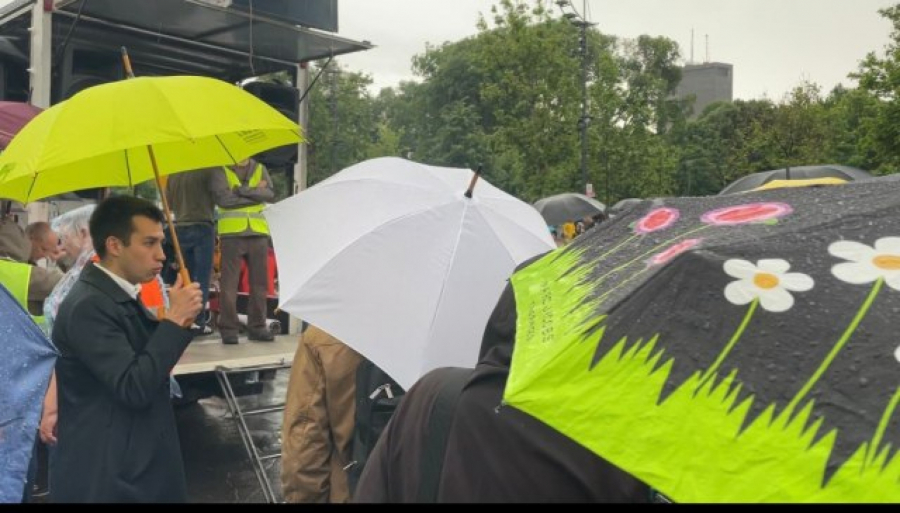
M 90 230 L 94 251 L 106 257 L 106 239 L 115 237 L 126 246 L 131 244 L 135 216 L 143 216 L 158 223 L 165 222 L 162 210 L 149 201 L 133 196 L 113 196 L 101 202 L 91 214 Z

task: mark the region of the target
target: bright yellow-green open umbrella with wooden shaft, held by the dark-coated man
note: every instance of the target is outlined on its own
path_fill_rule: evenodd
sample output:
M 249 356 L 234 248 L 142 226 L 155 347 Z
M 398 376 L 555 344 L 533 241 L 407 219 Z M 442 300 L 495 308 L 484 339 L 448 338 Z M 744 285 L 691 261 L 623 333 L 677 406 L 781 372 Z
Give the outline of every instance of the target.
M 235 85 L 195 76 L 132 78 L 85 89 L 32 119 L 0 155 L 0 197 L 27 203 L 159 182 L 299 141 L 296 123 Z

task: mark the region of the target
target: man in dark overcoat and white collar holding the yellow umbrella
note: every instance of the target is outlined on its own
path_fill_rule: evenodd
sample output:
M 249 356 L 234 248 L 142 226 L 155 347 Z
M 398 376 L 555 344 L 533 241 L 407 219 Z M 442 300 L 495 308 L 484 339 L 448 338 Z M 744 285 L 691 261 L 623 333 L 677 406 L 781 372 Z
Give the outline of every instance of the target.
M 200 287 L 180 281 L 158 322 L 139 302 L 140 283 L 165 262 L 162 213 L 114 197 L 91 216 L 100 257 L 59 308 L 53 342 L 59 443 L 54 502 L 184 502 L 184 464 L 169 399 L 169 373 L 191 341 Z

